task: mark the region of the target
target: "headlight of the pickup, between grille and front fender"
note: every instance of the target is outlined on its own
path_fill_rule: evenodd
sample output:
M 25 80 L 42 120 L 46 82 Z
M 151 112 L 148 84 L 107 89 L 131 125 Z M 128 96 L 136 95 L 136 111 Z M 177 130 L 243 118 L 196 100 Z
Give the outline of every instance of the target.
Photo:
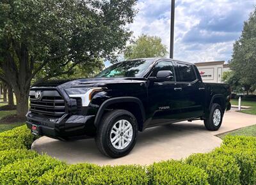
M 82 106 L 87 107 L 92 100 L 92 94 L 95 91 L 102 91 L 101 87 L 92 88 L 70 88 L 65 89 L 70 98 L 81 98 Z

